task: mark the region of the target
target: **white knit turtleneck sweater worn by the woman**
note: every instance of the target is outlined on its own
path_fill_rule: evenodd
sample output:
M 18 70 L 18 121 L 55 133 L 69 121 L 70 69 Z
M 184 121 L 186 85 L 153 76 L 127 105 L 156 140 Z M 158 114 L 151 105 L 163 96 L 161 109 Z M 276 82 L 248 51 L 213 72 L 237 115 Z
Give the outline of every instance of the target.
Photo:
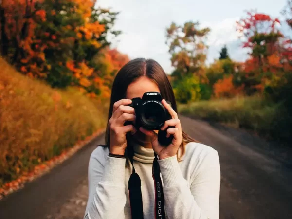
M 154 152 L 134 146 L 134 167 L 141 178 L 144 219 L 154 219 Z M 98 146 L 88 169 L 89 198 L 84 219 L 131 219 L 128 179 L 132 172 L 124 158 L 108 157 Z M 220 164 L 215 149 L 188 143 L 183 161 L 176 156 L 159 160 L 167 219 L 219 219 Z

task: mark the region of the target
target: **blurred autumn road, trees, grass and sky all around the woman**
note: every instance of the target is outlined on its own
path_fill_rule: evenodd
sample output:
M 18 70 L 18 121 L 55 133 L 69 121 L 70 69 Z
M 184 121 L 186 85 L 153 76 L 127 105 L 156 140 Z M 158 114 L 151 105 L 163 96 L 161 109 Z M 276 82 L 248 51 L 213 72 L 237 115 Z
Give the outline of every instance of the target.
M 219 151 L 220 218 L 291 219 L 292 0 L 0 0 L 0 218 L 83 218 L 111 85 L 136 57 Z

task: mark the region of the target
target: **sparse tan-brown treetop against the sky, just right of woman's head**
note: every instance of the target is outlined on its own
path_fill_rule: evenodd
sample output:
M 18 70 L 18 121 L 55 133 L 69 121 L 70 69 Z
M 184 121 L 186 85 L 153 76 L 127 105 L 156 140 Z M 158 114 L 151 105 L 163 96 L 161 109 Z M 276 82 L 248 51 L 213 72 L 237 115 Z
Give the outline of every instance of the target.
M 200 75 L 206 60 L 205 39 L 210 29 L 200 29 L 199 22 L 185 22 L 181 26 L 172 23 L 166 32 L 166 44 L 176 73 Z

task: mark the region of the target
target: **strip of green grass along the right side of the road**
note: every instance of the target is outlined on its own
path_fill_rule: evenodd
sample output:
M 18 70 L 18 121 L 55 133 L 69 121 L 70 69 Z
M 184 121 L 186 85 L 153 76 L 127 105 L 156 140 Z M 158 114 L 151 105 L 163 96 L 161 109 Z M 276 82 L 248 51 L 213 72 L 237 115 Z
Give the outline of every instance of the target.
M 281 104 L 260 96 L 200 101 L 179 105 L 183 115 L 246 128 L 278 141 L 291 139 L 292 118 Z

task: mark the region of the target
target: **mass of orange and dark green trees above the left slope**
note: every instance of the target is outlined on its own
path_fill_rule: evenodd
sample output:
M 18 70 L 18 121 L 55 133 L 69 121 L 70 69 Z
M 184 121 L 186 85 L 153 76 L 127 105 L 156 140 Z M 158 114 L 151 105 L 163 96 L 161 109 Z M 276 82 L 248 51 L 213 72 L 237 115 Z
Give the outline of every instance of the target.
M 121 32 L 113 29 L 118 13 L 94 5 L 95 0 L 1 0 L 1 55 L 52 87 L 100 94 L 104 84 L 95 82 L 113 77 L 127 58 L 116 51 L 117 60 L 109 59 L 112 72 L 98 72 L 96 57 L 114 54 L 104 50 L 110 46 L 108 35 Z

